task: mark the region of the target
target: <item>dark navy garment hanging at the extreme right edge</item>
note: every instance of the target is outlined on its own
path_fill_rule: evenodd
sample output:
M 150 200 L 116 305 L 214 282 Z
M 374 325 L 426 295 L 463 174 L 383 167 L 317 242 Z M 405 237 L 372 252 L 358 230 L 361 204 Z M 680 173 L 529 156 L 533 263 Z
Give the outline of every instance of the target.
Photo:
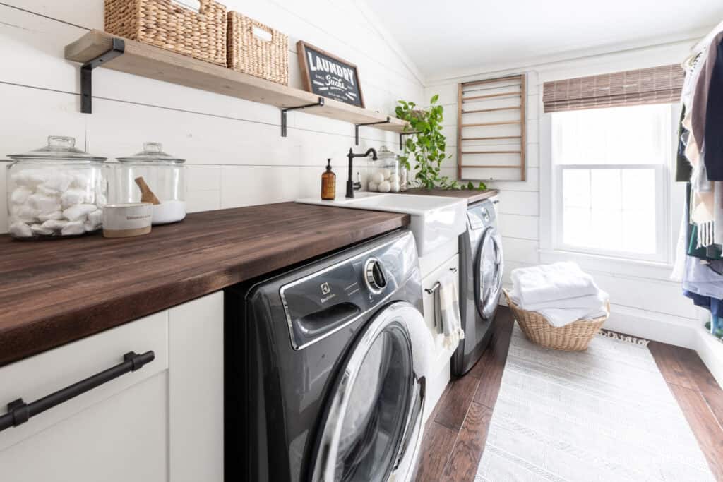
M 711 181 L 723 181 L 723 43 L 719 43 L 711 74 L 706 105 L 706 133 L 703 162 Z

